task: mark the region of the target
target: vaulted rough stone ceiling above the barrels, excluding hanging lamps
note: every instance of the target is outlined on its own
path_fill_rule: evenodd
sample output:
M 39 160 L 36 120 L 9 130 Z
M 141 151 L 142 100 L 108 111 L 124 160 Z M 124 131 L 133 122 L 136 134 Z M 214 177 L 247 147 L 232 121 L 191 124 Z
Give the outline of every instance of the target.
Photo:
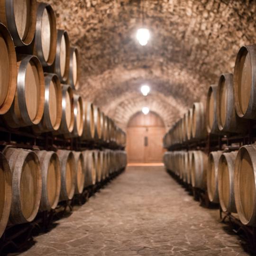
M 256 1 L 47 2 L 79 47 L 81 94 L 122 128 L 145 104 L 170 127 L 192 102 L 205 101 L 220 73 L 233 72 L 240 46 L 256 42 Z M 135 38 L 143 13 L 151 33 L 146 46 Z M 147 97 L 142 83 L 151 87 Z

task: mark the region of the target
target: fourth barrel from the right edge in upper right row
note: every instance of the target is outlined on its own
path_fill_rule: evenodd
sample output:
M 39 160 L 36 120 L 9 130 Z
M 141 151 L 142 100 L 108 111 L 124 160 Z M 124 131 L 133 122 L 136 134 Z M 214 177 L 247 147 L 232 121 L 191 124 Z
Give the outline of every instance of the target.
M 202 102 L 195 102 L 192 111 L 192 138 L 202 139 L 207 136 L 205 111 Z

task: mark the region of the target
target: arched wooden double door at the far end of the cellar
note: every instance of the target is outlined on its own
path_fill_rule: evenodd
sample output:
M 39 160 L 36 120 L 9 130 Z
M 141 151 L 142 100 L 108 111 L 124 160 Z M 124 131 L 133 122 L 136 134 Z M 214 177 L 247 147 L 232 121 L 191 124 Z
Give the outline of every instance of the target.
M 165 124 L 156 113 L 136 113 L 128 122 L 128 163 L 163 162 Z

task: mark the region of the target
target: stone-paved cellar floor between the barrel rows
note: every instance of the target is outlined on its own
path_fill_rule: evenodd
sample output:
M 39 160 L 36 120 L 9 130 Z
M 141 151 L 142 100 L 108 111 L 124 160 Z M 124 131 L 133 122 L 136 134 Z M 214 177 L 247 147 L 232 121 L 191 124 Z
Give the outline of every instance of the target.
M 164 167 L 128 167 L 23 256 L 248 255 L 218 210 L 199 206 Z

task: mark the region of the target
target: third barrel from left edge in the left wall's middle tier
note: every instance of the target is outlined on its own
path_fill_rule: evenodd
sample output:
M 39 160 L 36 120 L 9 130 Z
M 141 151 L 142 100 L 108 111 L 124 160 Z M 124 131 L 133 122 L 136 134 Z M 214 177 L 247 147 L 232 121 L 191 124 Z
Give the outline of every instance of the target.
M 40 123 L 33 126 L 33 130 L 36 133 L 56 131 L 61 124 L 62 89 L 58 76 L 45 73 L 45 86 L 44 114 Z

